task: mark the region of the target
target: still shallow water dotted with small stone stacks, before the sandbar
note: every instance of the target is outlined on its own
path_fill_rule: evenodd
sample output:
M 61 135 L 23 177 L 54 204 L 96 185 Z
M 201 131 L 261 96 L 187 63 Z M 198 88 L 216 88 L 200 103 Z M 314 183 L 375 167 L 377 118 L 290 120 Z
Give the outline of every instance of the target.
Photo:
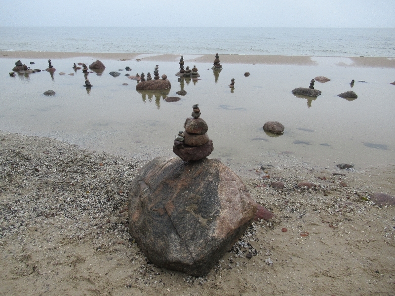
M 53 59 L 57 71 L 52 76 L 43 71 L 15 77 L 8 76 L 15 61 L 0 59 L 0 130 L 142 158 L 174 155 L 175 135 L 183 130 L 192 106 L 199 104 L 214 144 L 209 158 L 220 158 L 239 175 L 253 174 L 261 164 L 335 169 L 344 162 L 364 170 L 394 163 L 395 86 L 389 83 L 395 80 L 394 69 L 351 67 L 348 58 L 312 59 L 316 66 L 223 64 L 219 73 L 211 70 L 211 63 L 198 63 L 200 80 L 181 82 L 174 75 L 177 61 L 102 60 L 104 73 L 88 76 L 91 89 L 83 86 L 81 70 L 75 72 L 72 66 L 78 62 L 89 65 L 93 58 Z M 22 62 L 32 69 L 48 66 L 46 59 L 34 60 L 34 65 L 30 60 Z M 139 93 L 137 82 L 124 76 L 142 72 L 153 76 L 155 65 L 159 65 L 159 75 L 166 74 L 170 80 L 169 91 Z M 193 68 L 195 64 L 186 61 L 187 65 Z M 132 71 L 118 71 L 126 66 Z M 121 75 L 113 77 L 111 71 Z M 250 76 L 244 77 L 245 72 Z M 292 94 L 292 89 L 308 87 L 316 76 L 331 79 L 316 82 L 322 95 Z M 228 86 L 232 78 L 236 82 L 233 91 Z M 356 81 L 353 88 L 352 79 Z M 181 88 L 186 96 L 176 94 Z M 46 90 L 54 90 L 56 95 L 43 95 Z M 358 98 L 337 96 L 348 90 L 355 91 Z M 166 96 L 181 99 L 166 102 Z M 281 122 L 284 134 L 266 134 L 262 127 L 269 120 Z

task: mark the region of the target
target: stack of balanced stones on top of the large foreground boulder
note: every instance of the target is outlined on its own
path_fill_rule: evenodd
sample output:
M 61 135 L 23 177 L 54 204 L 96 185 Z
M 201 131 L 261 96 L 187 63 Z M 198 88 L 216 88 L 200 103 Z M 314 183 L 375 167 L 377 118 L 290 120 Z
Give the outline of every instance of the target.
M 187 118 L 184 123 L 185 131 L 178 133 L 173 146 L 173 152 L 184 161 L 197 161 L 214 150 L 213 141 L 207 135 L 207 123 L 199 118 L 199 105 L 192 108 L 192 118 Z

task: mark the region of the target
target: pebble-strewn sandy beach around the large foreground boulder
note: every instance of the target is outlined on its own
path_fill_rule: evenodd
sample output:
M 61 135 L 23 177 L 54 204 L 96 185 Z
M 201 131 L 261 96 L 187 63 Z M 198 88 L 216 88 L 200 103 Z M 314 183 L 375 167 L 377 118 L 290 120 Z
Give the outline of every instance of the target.
M 394 166 L 263 166 L 244 183 L 276 217 L 195 278 L 151 264 L 128 234 L 128 186 L 147 161 L 0 132 L 0 295 L 394 295 L 395 207 L 370 200 L 395 194 Z

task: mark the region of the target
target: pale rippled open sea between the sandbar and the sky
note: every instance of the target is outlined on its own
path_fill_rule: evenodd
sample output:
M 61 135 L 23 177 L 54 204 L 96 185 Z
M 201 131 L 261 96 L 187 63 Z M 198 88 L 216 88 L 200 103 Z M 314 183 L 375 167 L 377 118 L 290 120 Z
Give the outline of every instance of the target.
M 0 50 L 395 57 L 395 29 L 2 27 Z

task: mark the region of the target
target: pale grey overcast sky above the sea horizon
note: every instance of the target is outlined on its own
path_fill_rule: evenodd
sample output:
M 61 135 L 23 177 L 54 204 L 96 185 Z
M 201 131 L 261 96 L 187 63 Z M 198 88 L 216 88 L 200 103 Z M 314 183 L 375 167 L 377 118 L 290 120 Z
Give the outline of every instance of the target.
M 1 27 L 395 27 L 395 0 L 0 0 L 0 5 Z

